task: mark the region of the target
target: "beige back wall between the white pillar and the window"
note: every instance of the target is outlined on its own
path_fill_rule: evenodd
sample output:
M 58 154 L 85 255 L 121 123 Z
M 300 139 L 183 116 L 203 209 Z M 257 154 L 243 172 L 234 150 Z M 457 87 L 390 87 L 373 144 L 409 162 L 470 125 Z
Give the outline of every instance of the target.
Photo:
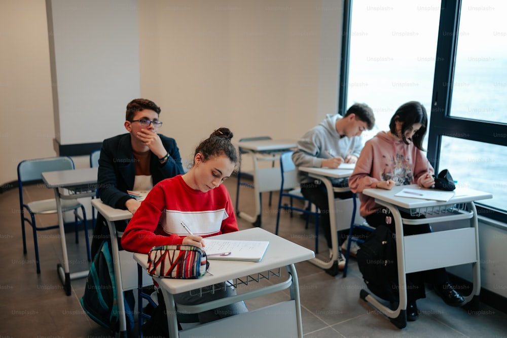
M 322 3 L 139 1 L 141 95 L 183 157 L 221 126 L 297 139 L 336 111 L 342 5 Z

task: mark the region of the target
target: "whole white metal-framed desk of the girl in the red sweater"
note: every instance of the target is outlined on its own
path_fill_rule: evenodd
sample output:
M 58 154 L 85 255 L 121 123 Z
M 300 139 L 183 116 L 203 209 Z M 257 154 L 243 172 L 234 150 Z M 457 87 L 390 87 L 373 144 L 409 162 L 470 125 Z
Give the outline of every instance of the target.
M 260 262 L 211 260 L 208 271 L 212 275 L 206 274 L 199 279 L 186 280 L 155 278 L 164 295 L 164 301 L 167 308 L 169 335 L 171 337 L 190 337 L 201 336 L 204 334 L 205 336 L 210 337 L 223 337 L 237 336 L 239 332 L 247 332 L 247 334 L 251 336 L 266 336 L 266 332 L 269 332 L 268 336 L 303 337 L 299 282 L 294 264 L 313 258 L 315 256 L 313 251 L 287 241 L 261 228 L 252 228 L 219 235 L 216 236 L 216 238 L 269 241 L 270 244 Z M 146 254 L 134 253 L 134 259 L 144 270 L 146 270 L 148 260 Z M 199 290 L 205 286 L 234 279 L 238 280 L 244 276 L 247 276 L 246 281 L 258 281 L 260 279 L 259 275 L 263 272 L 267 271 L 268 277 L 264 278 L 269 278 L 269 276 L 273 275 L 271 272 L 272 270 L 279 270 L 281 267 L 285 267 L 288 277 L 285 281 L 277 284 L 195 306 L 183 306 L 176 304 L 174 301 L 173 294 L 176 293 Z M 241 283 L 245 284 L 244 282 L 240 282 L 238 284 Z M 289 288 L 291 294 L 291 299 L 289 301 L 279 302 L 262 309 L 249 311 L 178 331 L 176 310 L 185 313 L 199 313 L 239 301 L 244 301 L 246 299 L 277 292 L 286 288 Z M 274 313 L 277 315 L 273 316 Z

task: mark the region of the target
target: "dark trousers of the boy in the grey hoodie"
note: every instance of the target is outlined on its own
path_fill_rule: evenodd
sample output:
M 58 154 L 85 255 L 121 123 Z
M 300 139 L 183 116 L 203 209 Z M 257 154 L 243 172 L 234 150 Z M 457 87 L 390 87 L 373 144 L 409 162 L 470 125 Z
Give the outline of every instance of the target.
M 328 242 L 328 248 L 331 248 L 333 245 L 331 242 L 328 190 L 322 182 L 301 183 L 301 194 L 303 194 L 308 201 L 315 204 L 320 209 L 319 224 L 324 232 L 325 240 Z M 351 192 L 335 193 L 335 198 L 347 199 L 351 197 Z M 350 222 L 350 219 L 347 221 Z M 341 245 L 340 237 L 338 237 L 338 245 Z

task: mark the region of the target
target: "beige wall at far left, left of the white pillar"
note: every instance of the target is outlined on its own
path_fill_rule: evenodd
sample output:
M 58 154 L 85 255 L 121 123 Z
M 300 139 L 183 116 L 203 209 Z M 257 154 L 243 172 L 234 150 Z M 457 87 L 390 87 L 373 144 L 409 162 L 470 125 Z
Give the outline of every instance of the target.
M 44 0 L 0 2 L 0 184 L 23 159 L 54 156 L 53 103 Z

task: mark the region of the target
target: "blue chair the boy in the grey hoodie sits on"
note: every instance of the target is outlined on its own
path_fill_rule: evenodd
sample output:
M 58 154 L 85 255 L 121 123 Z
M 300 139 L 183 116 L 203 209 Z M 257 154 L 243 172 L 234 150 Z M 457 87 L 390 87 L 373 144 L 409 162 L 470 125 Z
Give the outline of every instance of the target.
M 278 213 L 276 215 L 276 230 L 275 235 L 278 235 L 278 225 L 280 223 L 280 210 L 286 209 L 291 211 L 291 217 L 293 216 L 293 211 L 303 212 L 307 215 L 306 217 L 306 228 L 308 228 L 308 221 L 310 216 L 313 216 L 315 219 L 315 253 L 318 253 L 318 208 L 315 206 L 315 211 L 311 210 L 311 203 L 308 201 L 302 194 L 301 189 L 299 187 L 299 181 L 296 173 L 296 166 L 292 161 L 292 154 L 294 152 L 285 152 L 280 155 L 280 171 L 281 171 L 281 185 L 280 185 L 280 194 L 278 197 Z M 289 205 L 282 204 L 282 198 L 289 198 Z M 307 202 L 308 206 L 306 208 L 299 208 L 294 206 L 293 201 L 300 200 Z

